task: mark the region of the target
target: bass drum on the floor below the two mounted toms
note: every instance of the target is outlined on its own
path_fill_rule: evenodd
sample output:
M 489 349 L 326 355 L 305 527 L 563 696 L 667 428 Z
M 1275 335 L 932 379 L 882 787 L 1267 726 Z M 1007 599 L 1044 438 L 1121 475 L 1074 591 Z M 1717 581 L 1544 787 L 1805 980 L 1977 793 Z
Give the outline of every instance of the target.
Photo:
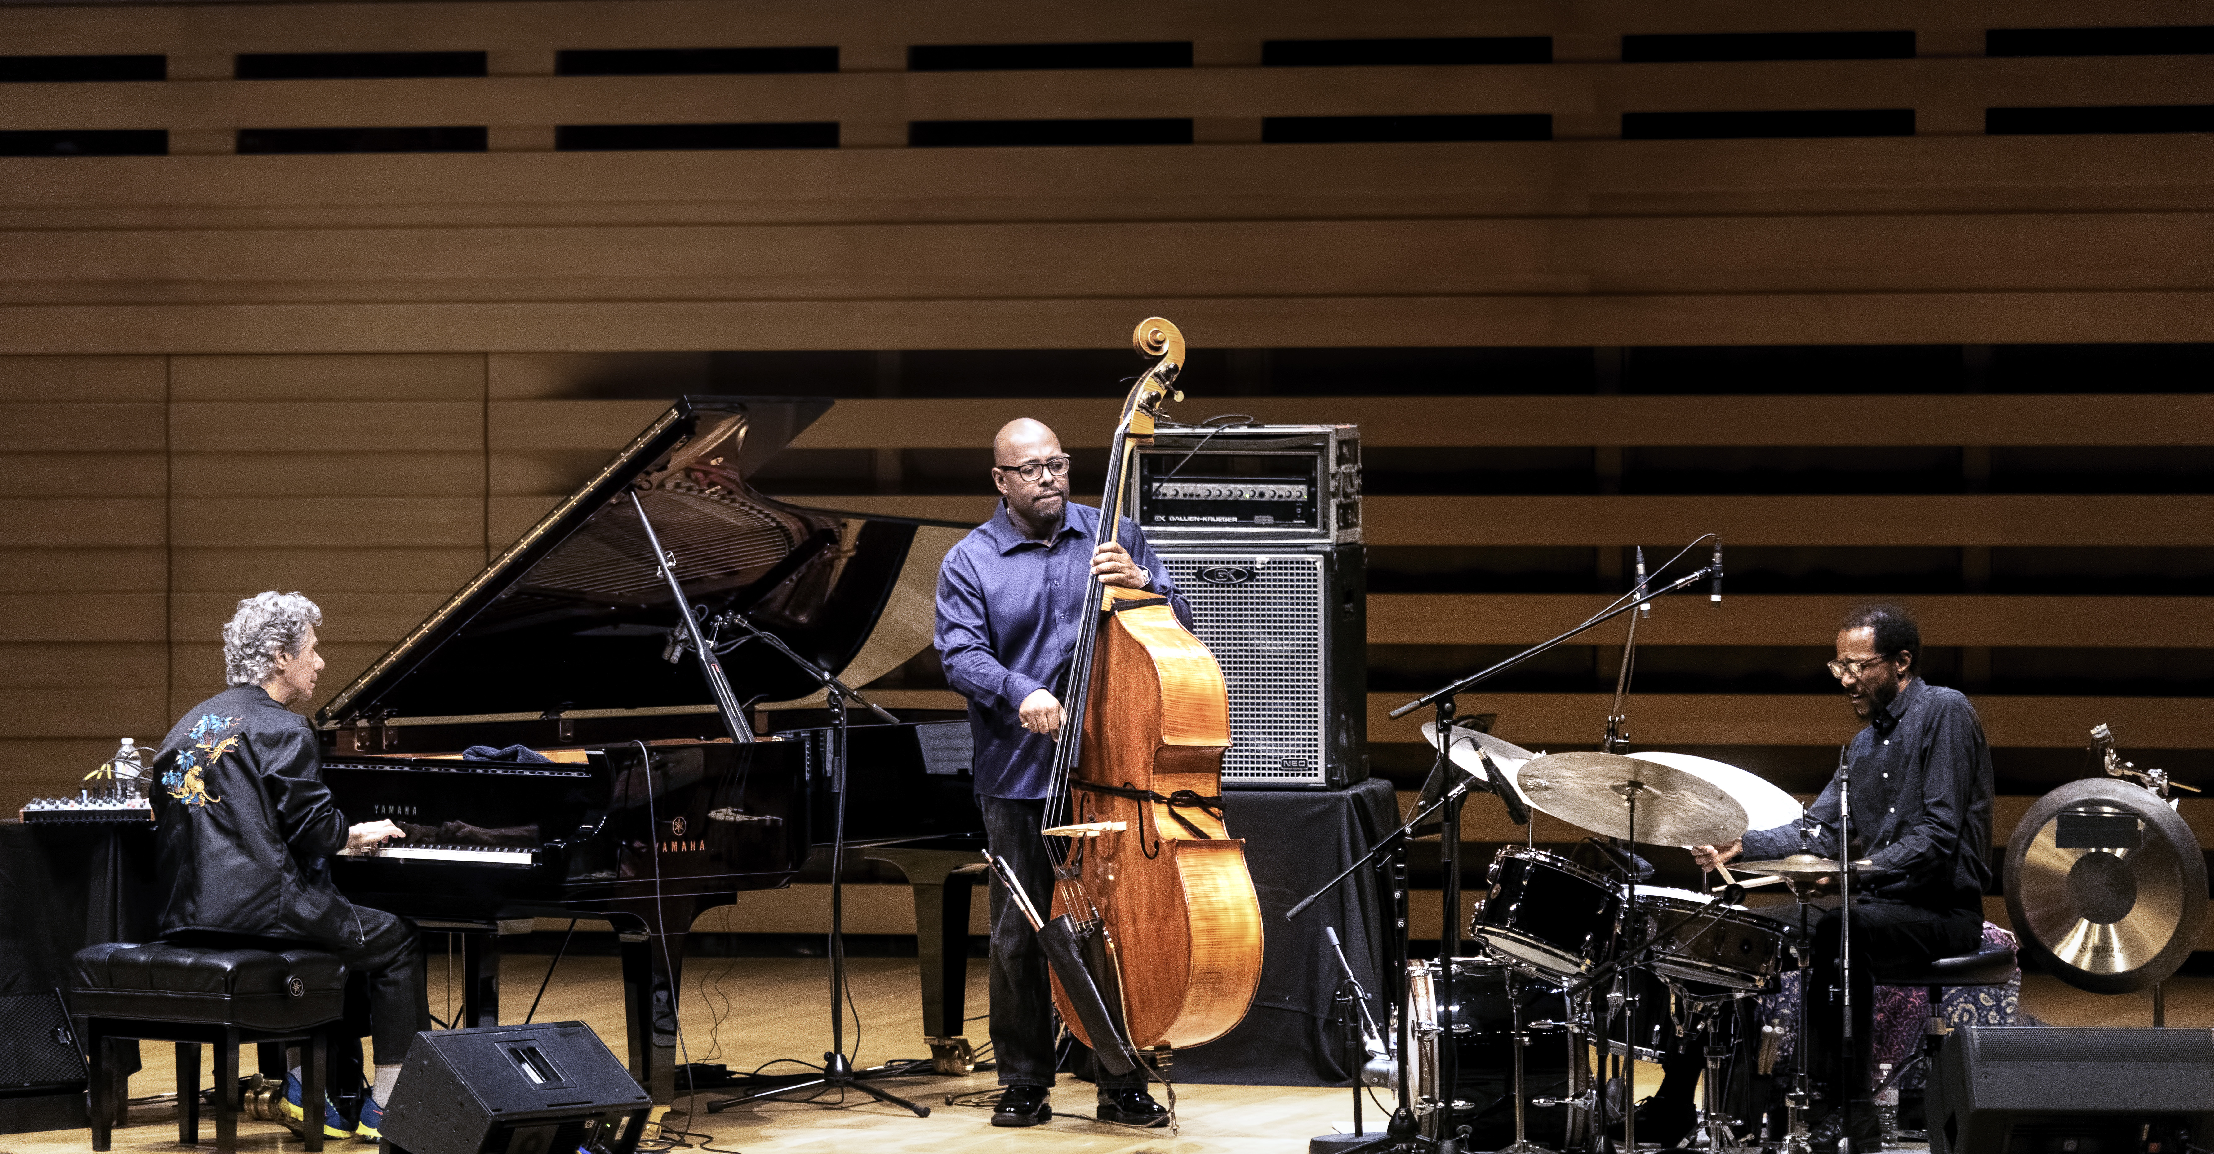
M 1399 1077 L 1413 1079 L 1415 1114 L 1421 1132 L 1441 1139 L 1452 1130 L 1466 1130 L 1461 1150 L 1501 1150 L 1514 1141 L 1514 1019 L 1508 1001 L 1508 975 L 1514 973 L 1490 959 L 1457 957 L 1452 962 L 1455 993 L 1461 1004 L 1441 1006 L 1437 962 L 1413 962 L 1406 968 L 1408 999 L 1397 1013 L 1408 1015 L 1408 1037 L 1413 1043 L 1413 1070 L 1401 1063 Z M 1514 977 L 1514 997 L 1530 997 L 1541 990 L 1528 975 Z M 1561 1021 L 1565 1010 L 1561 995 L 1545 990 L 1523 1006 L 1523 1024 Z M 1452 1114 L 1446 1123 L 1444 1094 L 1437 1079 L 1437 1048 L 1452 1030 L 1455 1077 Z M 1523 1094 L 1530 1099 L 1565 1099 L 1583 1092 L 1590 1083 L 1590 1050 L 1570 1046 L 1568 1035 L 1554 1030 L 1525 1030 L 1523 1046 Z M 1388 1043 L 1397 1043 L 1397 1021 Z M 1583 1143 L 1583 1112 L 1565 1105 L 1530 1105 L 1523 1127 L 1532 1143 L 1568 1150 Z

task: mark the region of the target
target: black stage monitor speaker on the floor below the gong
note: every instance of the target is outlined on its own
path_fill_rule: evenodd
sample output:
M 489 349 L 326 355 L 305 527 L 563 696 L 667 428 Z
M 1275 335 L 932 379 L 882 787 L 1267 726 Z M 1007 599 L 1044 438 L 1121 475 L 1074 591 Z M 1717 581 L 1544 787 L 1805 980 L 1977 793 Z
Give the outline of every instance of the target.
M 1962 1026 L 1931 1154 L 2190 1154 L 2214 1139 L 2214 1030 Z

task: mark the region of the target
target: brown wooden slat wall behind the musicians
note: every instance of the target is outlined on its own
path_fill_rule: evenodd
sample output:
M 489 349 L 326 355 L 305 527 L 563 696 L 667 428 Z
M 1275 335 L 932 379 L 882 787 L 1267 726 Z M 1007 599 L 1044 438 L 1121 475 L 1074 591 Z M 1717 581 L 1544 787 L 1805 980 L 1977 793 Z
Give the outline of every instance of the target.
M 0 130 L 166 128 L 168 157 L 0 159 L 0 807 L 219 685 L 237 597 L 330 615 L 323 694 L 646 420 L 706 349 L 2214 340 L 2214 137 L 1984 137 L 2008 104 L 2214 104 L 2205 57 L 1982 57 L 1990 27 L 2192 24 L 2181 0 L 1063 7 L 573 0 L 0 9 L 7 53 L 166 53 L 162 84 L 11 84 Z M 1142 29 L 1142 31 L 1136 31 Z M 1623 64 L 1623 33 L 1913 29 L 1915 60 Z M 1260 69 L 1286 38 L 1550 35 L 1556 64 Z M 906 73 L 908 44 L 1193 40 L 1189 71 Z M 558 49 L 835 44 L 835 75 L 554 77 Z M 250 51 L 489 51 L 485 80 L 237 82 Z M 1913 108 L 1915 137 L 1623 141 L 1621 115 Z M 1262 117 L 1550 113 L 1554 141 L 1262 146 Z M 910 119 L 1196 117 L 1184 148 L 906 148 Z M 841 148 L 554 153 L 556 124 L 837 119 Z M 472 124 L 487 155 L 239 157 L 257 126 Z M 642 382 L 669 382 L 644 387 Z M 1220 382 L 1191 378 L 1200 400 Z M 1370 449 L 2207 447 L 2141 396 L 1253 398 Z M 1472 380 L 1470 391 L 1483 389 Z M 1778 382 L 1787 394 L 1791 382 Z M 1880 389 L 1880 385 L 1877 385 Z M 1041 394 L 1052 382 L 1041 382 Z M 1231 407 L 1231 405 L 1222 405 Z M 1012 411 L 859 398 L 795 447 L 981 444 Z M 1207 409 L 1215 411 L 1215 409 Z M 979 517 L 974 495 L 808 497 Z M 2203 495 L 1384 495 L 1370 544 L 2214 546 Z M 1884 590 L 1871 590 L 1884 592 Z M 1660 646 L 1820 646 L 1849 597 L 1665 606 Z M 1379 595 L 1379 646 L 1512 646 L 1581 595 Z M 2196 597 L 1920 597 L 1933 643 L 2214 648 Z M 1809 634 L 1809 621 L 1818 623 Z M 945 705 L 945 694 L 888 694 Z M 1592 694 L 1508 694 L 1590 741 Z M 1401 694 L 1373 694 L 1379 747 Z M 1645 741 L 1829 745 L 1827 696 L 1638 701 Z M 1492 707 L 1492 705 L 1488 705 Z M 1995 743 L 2092 721 L 2203 745 L 2205 699 L 1979 699 Z M 2196 818 L 2194 818 L 2196 820 Z M 897 911 L 894 911 L 897 913 Z M 897 920 L 897 917 L 894 917 Z

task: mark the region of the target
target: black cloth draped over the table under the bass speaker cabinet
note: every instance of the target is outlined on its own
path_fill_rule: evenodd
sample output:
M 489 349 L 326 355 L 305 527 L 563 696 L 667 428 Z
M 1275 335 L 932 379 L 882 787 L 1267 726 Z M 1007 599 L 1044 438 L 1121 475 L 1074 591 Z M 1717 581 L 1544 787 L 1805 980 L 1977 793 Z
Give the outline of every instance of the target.
M 1346 962 L 1368 990 L 1370 1013 L 1386 1017 L 1384 933 L 1390 909 L 1379 873 L 1362 869 L 1286 922 L 1284 911 L 1342 873 L 1399 825 L 1399 802 L 1386 780 L 1337 791 L 1229 789 L 1224 822 L 1246 842 L 1246 869 L 1260 893 L 1262 971 L 1253 1008 L 1235 1030 L 1207 1046 L 1178 1050 L 1173 1081 L 1233 1085 L 1351 1085 L 1346 1035 L 1333 995 L 1344 979 L 1324 926 L 1335 926 Z

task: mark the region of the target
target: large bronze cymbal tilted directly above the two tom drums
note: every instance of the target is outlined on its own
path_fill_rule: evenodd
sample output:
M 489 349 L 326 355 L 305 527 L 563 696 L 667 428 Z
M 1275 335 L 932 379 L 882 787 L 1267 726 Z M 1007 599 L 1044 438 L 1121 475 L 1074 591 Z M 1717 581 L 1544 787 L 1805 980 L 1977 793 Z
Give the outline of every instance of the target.
M 1745 833 L 1745 807 L 1722 787 L 1652 760 L 1618 754 L 1552 754 L 1525 763 L 1514 785 L 1530 805 L 1607 838 L 1643 844 L 1729 844 Z M 1630 798 L 1636 822 L 1630 829 Z

